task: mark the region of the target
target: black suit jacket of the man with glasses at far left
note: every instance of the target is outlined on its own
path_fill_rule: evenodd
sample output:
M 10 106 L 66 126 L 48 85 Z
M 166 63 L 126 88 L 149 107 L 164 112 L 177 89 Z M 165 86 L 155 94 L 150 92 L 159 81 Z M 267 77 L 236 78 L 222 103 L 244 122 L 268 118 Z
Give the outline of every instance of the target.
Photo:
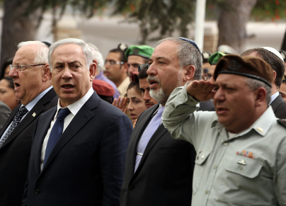
M 25 115 L 25 118 L 21 120 L 18 127 L 0 148 L 0 205 L 21 205 L 35 120 L 41 113 L 57 105 L 57 99 L 55 90 L 51 88 Z M 3 130 L 1 130 L 0 137 L 20 107 L 21 104 L 13 109 Z M 33 113 L 35 113 L 35 117 Z

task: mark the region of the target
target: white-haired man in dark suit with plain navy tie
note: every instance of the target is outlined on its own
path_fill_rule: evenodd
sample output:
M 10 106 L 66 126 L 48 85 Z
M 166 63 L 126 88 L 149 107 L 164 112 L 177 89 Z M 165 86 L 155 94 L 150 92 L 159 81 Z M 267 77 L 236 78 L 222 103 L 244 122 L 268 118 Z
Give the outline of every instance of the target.
M 36 122 L 22 205 L 119 205 L 132 123 L 93 91 L 83 40 L 52 44 L 49 65 L 59 102 Z

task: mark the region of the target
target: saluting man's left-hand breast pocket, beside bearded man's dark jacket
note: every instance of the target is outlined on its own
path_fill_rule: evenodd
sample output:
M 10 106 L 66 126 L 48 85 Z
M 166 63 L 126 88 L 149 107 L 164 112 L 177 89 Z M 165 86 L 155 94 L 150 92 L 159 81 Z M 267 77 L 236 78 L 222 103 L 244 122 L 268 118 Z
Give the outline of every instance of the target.
M 194 177 L 193 178 L 193 193 L 195 194 L 200 188 L 200 181 L 202 179 L 203 173 L 205 171 L 205 164 L 207 158 L 210 156 L 209 150 L 202 149 L 198 152 L 197 156 L 195 157 L 195 168 L 194 168 Z

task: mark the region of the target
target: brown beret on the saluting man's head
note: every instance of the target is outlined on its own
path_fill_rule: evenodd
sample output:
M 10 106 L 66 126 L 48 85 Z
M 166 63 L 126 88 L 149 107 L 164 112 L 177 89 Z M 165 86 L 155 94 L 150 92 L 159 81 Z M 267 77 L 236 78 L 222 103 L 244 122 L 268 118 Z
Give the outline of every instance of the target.
M 217 63 L 214 70 L 214 80 L 219 74 L 236 74 L 251 79 L 263 81 L 271 87 L 273 69 L 263 59 L 258 57 L 240 57 L 239 55 L 225 55 Z

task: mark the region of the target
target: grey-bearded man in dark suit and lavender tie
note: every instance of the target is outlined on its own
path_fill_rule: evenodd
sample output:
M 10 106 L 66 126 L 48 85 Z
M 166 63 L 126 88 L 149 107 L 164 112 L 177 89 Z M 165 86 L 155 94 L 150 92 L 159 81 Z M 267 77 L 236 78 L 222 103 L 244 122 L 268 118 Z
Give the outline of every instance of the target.
M 190 206 L 195 149 L 174 141 L 160 115 L 173 89 L 202 78 L 202 56 L 192 40 L 166 38 L 147 67 L 150 94 L 159 103 L 139 116 L 132 132 L 120 205 Z

